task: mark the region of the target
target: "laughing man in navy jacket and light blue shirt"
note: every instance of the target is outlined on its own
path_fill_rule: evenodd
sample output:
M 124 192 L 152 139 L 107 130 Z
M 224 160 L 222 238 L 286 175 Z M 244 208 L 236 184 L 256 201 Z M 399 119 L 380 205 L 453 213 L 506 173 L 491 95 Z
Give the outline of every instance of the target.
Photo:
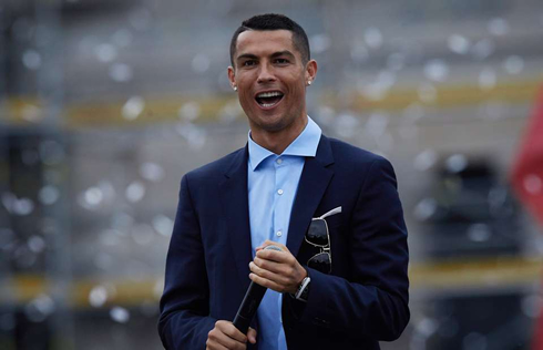
M 164 347 L 379 349 L 409 321 L 407 230 L 390 163 L 321 135 L 307 116 L 317 63 L 290 19 L 246 20 L 230 59 L 249 140 L 182 179 Z M 317 217 L 321 246 L 311 241 Z M 320 258 L 328 270 L 311 267 Z M 269 289 L 245 336 L 230 321 L 250 281 Z

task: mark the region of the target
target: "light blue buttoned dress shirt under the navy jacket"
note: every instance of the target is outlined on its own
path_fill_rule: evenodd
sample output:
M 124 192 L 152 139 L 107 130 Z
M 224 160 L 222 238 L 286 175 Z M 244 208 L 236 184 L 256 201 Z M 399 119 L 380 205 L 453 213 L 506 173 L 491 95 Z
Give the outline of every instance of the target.
M 266 239 L 287 244 L 288 225 L 305 157 L 315 157 L 320 127 L 308 116 L 301 134 L 277 155 L 250 138 L 248 157 L 248 196 L 253 258 L 256 247 Z M 281 320 L 281 295 L 268 289 L 257 311 L 257 343 L 260 350 L 286 350 Z

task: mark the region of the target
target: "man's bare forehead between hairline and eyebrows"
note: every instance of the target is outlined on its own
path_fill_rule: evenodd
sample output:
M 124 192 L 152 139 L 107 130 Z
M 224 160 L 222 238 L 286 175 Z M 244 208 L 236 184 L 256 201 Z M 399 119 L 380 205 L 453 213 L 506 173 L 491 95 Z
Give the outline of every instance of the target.
M 247 30 L 237 37 L 236 55 L 266 55 L 286 50 L 298 53 L 294 48 L 293 32 L 288 30 Z

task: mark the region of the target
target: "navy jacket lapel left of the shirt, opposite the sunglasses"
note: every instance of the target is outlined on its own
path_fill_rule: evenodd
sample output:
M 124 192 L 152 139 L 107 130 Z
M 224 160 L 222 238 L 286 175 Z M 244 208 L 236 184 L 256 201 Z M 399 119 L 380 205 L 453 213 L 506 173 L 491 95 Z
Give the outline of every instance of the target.
M 226 168 L 225 178 L 219 184 L 219 196 L 227 223 L 228 240 L 230 241 L 233 259 L 243 286 L 249 286 L 250 228 L 249 205 L 247 196 L 247 156 L 248 148 L 239 150 Z

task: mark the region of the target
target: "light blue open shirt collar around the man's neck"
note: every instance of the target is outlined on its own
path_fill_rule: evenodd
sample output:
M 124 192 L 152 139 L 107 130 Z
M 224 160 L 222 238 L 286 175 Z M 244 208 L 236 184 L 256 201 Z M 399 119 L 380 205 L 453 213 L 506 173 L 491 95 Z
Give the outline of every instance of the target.
M 322 131 L 315 123 L 309 115 L 307 116 L 307 125 L 304 127 L 304 131 L 293 141 L 288 147 L 280 155 L 294 155 L 294 156 L 307 156 L 314 157 L 317 154 L 317 147 L 320 142 L 320 135 Z M 269 157 L 274 155 L 274 153 L 269 150 L 264 148 L 259 144 L 253 141 L 250 137 L 250 131 L 248 134 L 249 138 L 249 165 L 253 171 L 255 171 L 258 165 Z

